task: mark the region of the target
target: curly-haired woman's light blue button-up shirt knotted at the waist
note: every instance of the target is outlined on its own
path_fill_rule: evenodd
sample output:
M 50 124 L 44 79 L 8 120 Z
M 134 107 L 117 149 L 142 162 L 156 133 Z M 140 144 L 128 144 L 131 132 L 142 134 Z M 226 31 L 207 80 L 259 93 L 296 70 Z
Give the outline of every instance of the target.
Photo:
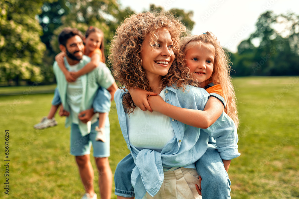
M 126 113 L 122 105 L 123 94 L 124 92 L 117 90 L 114 100 L 123 137 L 136 164 L 131 176 L 136 199 L 143 198 L 146 192 L 154 196 L 159 191 L 164 180 L 163 167 L 195 168 L 194 163 L 208 148 L 209 135 L 216 138 L 216 149 L 222 159 L 231 160 L 240 155 L 237 128 L 225 112 L 208 129 L 191 127 L 170 118 L 175 137 L 164 146 L 161 153 L 150 149 L 136 149 L 129 143 Z M 168 99 L 166 102 L 176 107 L 203 110 L 209 94 L 202 88 L 187 86 L 184 92 L 166 87 L 165 96 Z

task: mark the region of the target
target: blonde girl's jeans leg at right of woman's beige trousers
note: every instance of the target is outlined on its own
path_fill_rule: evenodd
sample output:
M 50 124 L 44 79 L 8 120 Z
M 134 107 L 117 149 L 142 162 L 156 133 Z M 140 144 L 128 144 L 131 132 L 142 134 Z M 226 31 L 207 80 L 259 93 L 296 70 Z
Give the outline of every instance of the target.
M 196 171 L 202 177 L 202 199 L 231 198 L 231 181 L 215 146 L 209 144 L 205 154 L 195 164 Z

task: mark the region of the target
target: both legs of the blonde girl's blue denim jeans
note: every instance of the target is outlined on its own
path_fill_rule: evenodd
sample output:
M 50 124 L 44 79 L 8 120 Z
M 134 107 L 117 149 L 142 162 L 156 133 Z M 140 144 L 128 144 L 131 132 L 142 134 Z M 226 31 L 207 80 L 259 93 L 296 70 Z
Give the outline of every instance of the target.
M 214 145 L 209 144 L 205 154 L 195 164 L 197 173 L 202 177 L 203 199 L 231 198 L 231 181 Z M 118 163 L 114 174 L 115 195 L 126 198 L 134 196 L 131 183 L 131 173 L 134 167 L 135 163 L 131 154 Z

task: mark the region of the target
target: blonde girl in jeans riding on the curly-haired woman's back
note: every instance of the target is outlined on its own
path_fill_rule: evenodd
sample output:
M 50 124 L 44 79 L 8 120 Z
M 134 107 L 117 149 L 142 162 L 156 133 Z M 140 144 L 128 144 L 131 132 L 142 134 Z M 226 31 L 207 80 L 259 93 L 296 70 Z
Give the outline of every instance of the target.
M 204 88 L 210 94 L 204 111 L 175 107 L 165 102 L 159 95 L 149 96 L 156 95 L 153 92 L 130 89 L 129 92 L 136 106 L 142 110 L 160 112 L 184 124 L 204 129 L 211 126 L 224 110 L 238 126 L 236 97 L 229 75 L 228 57 L 219 41 L 207 32 L 184 38 L 181 50 L 184 52 L 187 67 L 193 73 L 193 78 L 200 82 L 199 87 Z M 215 139 L 209 137 L 207 151 L 196 161 L 196 171 L 202 178 L 201 186 L 196 187 L 196 189 L 204 199 L 230 198 L 231 182 L 228 179 L 227 171 L 231 158 L 220 158 L 219 153 L 221 151 L 215 150 L 215 144 Z M 118 188 L 121 183 L 117 181 L 120 175 L 122 175 L 120 181 L 125 181 L 125 177 L 130 179 L 130 175 L 125 174 L 125 172 L 129 172 L 128 170 L 133 167 L 132 165 L 135 166 L 132 159 L 130 154 L 123 158 L 115 171 L 115 191 L 118 195 L 126 198 L 134 196 L 134 189 L 128 186 Z M 120 169 L 123 164 L 128 170 L 122 171 Z M 128 191 L 126 195 L 123 192 L 124 188 Z

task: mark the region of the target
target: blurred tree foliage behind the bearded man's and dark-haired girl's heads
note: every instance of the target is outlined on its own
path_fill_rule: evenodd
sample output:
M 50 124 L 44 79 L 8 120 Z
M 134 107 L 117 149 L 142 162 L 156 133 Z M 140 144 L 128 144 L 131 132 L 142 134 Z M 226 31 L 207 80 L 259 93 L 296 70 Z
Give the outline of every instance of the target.
M 51 46 L 56 53 L 60 51 L 57 36 L 64 27 L 76 27 L 85 33 L 89 26 L 98 27 L 104 32 L 104 39 L 108 41 L 106 42 L 108 51 L 108 43 L 115 29 L 130 13 L 133 13 L 129 7 L 121 10 L 115 0 L 65 0 L 65 4 L 68 6 L 68 14 L 61 17 L 62 25 L 53 32 L 51 38 Z

